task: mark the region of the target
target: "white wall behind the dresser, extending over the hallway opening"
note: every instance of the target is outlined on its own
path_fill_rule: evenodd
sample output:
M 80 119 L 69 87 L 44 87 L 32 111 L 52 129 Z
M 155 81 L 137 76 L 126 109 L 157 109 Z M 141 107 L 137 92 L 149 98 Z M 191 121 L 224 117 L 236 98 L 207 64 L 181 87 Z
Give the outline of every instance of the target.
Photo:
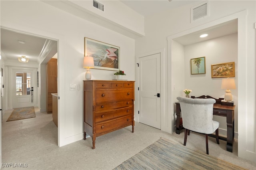
M 84 37 L 120 47 L 120 69 L 135 80 L 135 41 L 40 1 L 1 1 L 1 26 L 58 40 L 59 146 L 83 138 Z M 92 79 L 114 72 L 91 69 Z M 80 90 L 70 90 L 70 84 Z

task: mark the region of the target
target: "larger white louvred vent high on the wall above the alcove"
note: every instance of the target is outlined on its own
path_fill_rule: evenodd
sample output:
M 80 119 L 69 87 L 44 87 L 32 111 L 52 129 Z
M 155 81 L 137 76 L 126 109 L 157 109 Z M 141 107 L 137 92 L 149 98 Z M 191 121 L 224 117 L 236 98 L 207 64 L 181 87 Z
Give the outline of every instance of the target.
M 208 16 L 208 2 L 204 2 L 194 8 L 191 8 L 191 22 Z

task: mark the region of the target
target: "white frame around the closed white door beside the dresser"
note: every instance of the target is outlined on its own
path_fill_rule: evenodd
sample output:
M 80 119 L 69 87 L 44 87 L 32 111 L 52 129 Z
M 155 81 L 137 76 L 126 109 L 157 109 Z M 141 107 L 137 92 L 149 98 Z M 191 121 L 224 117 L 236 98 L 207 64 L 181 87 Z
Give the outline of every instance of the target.
M 165 52 L 165 49 L 162 48 L 162 49 L 157 49 L 157 50 L 154 50 L 154 51 L 149 51 L 147 53 L 142 53 L 140 55 L 136 55 L 135 56 L 135 64 L 137 65 L 136 69 L 135 69 L 135 114 L 134 114 L 134 121 L 136 122 L 139 122 L 139 116 L 138 116 L 138 111 L 139 111 L 139 93 L 138 93 L 138 62 L 139 62 L 139 58 L 141 57 L 146 57 L 148 55 L 154 55 L 154 54 L 157 54 L 157 53 L 160 53 L 160 115 L 161 115 L 161 130 L 162 131 L 166 131 L 167 128 L 168 128 L 168 122 L 165 121 L 165 117 L 168 116 L 167 114 L 165 114 L 165 104 L 166 104 L 166 95 L 165 95 L 165 65 L 164 65 L 164 60 L 165 60 L 165 57 L 164 57 L 164 52 Z M 166 71 L 167 72 L 167 71 Z M 166 116 L 165 116 L 166 115 Z

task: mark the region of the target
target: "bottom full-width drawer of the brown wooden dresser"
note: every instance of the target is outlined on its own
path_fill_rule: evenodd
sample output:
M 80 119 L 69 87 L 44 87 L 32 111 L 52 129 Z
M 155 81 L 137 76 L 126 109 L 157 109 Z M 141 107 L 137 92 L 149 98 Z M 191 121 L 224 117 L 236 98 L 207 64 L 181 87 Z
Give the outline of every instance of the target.
M 100 136 L 102 134 L 112 132 L 119 128 L 130 126 L 132 125 L 132 123 L 133 123 L 132 115 L 126 116 L 126 117 L 120 117 L 118 119 L 113 119 L 113 120 L 102 122 L 102 123 L 96 123 L 95 133 L 96 133 L 96 136 Z

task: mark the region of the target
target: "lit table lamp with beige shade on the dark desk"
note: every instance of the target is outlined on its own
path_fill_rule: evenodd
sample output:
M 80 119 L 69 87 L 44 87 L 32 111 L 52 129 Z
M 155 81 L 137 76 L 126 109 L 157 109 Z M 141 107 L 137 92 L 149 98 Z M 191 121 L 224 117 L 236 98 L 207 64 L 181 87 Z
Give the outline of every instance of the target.
M 230 89 L 236 89 L 235 79 L 222 79 L 221 89 L 226 89 L 224 99 L 226 101 L 232 101 L 232 94 Z

